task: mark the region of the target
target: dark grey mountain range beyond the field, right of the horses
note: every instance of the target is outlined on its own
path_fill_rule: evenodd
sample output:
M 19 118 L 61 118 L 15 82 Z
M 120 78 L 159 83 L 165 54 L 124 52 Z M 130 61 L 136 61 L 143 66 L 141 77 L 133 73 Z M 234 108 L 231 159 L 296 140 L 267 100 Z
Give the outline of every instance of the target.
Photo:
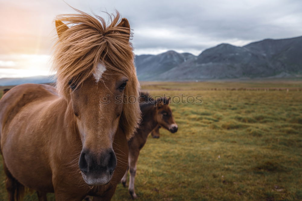
M 174 51 L 140 55 L 135 62 L 139 80 L 290 77 L 302 74 L 302 36 L 242 47 L 223 43 L 198 56 Z

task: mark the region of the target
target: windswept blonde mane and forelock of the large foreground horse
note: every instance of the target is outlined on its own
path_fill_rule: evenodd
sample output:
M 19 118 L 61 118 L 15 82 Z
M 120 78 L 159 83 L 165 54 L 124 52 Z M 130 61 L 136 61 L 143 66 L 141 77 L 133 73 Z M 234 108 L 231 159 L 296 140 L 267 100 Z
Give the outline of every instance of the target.
M 129 79 L 124 90 L 125 96 L 138 97 L 139 83 L 134 67 L 133 48 L 129 42 L 131 32 L 130 28 L 117 26 L 120 14 L 117 12 L 116 15 L 110 15 L 110 24 L 107 25 L 100 16 L 76 11 L 79 14 L 57 16 L 57 20 L 70 26 L 60 34 L 53 55 L 58 93 L 68 98 L 70 84 L 79 87 L 97 70 L 101 62 L 108 70 L 117 71 Z M 60 27 L 63 29 L 65 24 Z M 139 121 L 139 104 L 124 104 L 120 127 L 127 139 L 132 137 Z

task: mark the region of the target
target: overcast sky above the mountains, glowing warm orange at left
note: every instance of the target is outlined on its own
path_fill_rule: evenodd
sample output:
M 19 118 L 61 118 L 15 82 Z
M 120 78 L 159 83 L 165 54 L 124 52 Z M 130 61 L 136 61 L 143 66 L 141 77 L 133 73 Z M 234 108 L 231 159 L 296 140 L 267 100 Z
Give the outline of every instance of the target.
M 138 55 L 171 49 L 199 55 L 220 43 L 243 46 L 265 38 L 302 35 L 301 0 L 66 2 L 103 17 L 106 14 L 101 11 L 112 13 L 117 9 L 130 22 Z M 74 12 L 61 0 L 0 0 L 0 68 L 27 68 L 23 60 L 18 63 L 8 59 L 16 55 L 49 55 L 56 34 L 53 19 L 57 14 Z M 15 63 L 9 63 L 11 60 Z

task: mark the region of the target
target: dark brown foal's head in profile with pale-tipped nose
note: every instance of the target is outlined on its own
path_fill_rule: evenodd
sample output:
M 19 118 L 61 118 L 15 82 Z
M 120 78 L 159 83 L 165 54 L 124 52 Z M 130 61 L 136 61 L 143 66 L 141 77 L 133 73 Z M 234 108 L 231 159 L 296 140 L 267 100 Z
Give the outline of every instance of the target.
M 169 107 L 169 98 L 160 97 L 156 99 L 156 120 L 159 126 L 169 130 L 171 133 L 176 133 L 178 126 L 174 121 L 172 110 Z

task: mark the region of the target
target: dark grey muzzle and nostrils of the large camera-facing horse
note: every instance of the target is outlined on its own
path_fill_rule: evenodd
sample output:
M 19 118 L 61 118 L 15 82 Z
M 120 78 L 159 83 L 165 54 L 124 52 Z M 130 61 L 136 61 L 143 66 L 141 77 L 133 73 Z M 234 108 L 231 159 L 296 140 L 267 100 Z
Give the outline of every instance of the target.
M 113 149 L 108 149 L 101 154 L 82 149 L 79 168 L 84 181 L 91 186 L 105 185 L 111 180 L 117 165 Z

